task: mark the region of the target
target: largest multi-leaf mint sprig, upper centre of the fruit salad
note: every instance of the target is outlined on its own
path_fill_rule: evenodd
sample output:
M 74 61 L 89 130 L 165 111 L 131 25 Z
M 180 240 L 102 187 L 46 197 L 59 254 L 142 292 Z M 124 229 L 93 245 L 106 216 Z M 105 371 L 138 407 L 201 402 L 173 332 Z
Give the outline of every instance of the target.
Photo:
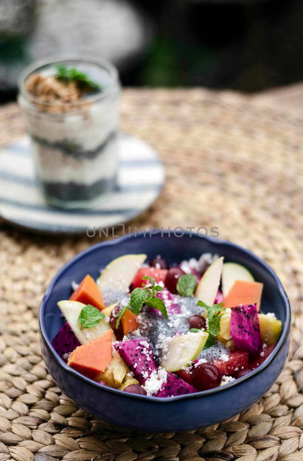
M 147 307 L 152 307 L 153 309 L 158 309 L 163 313 L 165 319 L 167 319 L 167 310 L 162 299 L 155 296 L 156 292 L 162 291 L 163 288 L 160 285 L 156 285 L 155 280 L 151 277 L 142 277 L 143 280 L 150 280 L 151 286 L 147 287 L 146 284 L 142 284 L 142 288 L 135 288 L 130 295 L 129 303 L 127 306 L 122 307 L 119 311 L 117 318 L 116 328 L 118 328 L 119 322 L 122 318 L 122 315 L 129 308 L 134 315 L 138 315 L 143 307 L 143 304 L 146 304 Z

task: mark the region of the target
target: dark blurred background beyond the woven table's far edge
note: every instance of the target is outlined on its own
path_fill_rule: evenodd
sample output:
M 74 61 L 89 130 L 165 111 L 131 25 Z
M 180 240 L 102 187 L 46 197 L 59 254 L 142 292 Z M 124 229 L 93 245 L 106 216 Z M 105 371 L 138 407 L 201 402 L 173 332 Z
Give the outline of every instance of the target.
M 31 61 L 103 55 L 127 86 L 257 92 L 303 79 L 302 0 L 0 0 L 0 102 Z

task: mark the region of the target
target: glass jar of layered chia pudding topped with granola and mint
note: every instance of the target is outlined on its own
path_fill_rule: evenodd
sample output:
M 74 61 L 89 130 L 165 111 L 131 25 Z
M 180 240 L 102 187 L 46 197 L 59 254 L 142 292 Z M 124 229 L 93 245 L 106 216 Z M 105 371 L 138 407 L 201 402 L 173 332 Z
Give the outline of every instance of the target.
M 24 71 L 18 102 L 48 201 L 86 207 L 116 185 L 120 85 L 107 61 L 54 59 Z

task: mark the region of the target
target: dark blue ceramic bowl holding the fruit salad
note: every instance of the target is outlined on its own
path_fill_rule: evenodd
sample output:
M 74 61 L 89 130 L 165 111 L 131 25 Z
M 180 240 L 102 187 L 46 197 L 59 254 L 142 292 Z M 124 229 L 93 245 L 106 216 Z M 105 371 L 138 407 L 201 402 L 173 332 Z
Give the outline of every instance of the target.
M 111 260 L 128 253 L 161 254 L 170 263 L 179 263 L 201 253 L 223 255 L 225 261 L 246 266 L 264 284 L 262 312 L 274 312 L 283 322 L 279 343 L 272 354 L 243 378 L 216 389 L 186 396 L 159 398 L 129 394 L 101 386 L 85 378 L 60 359 L 52 338 L 63 325 L 57 302 L 68 299 L 72 280 L 80 282 L 89 273 L 93 278 Z M 78 254 L 52 280 L 40 308 L 41 348 L 52 378 L 79 407 L 102 420 L 138 431 L 178 432 L 211 426 L 249 408 L 259 400 L 280 374 L 289 348 L 291 311 L 280 280 L 272 269 L 251 252 L 216 238 L 185 234 L 176 237 L 161 233 L 134 235 L 99 243 Z

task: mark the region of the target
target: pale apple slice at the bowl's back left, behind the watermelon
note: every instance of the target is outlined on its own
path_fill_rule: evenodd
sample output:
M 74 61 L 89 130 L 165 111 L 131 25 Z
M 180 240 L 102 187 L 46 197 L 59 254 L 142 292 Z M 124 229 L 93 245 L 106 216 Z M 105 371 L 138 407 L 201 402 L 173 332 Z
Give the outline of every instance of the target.
M 129 285 L 145 260 L 146 254 L 125 254 L 112 260 L 97 280 L 100 291 L 117 288 L 128 292 Z

